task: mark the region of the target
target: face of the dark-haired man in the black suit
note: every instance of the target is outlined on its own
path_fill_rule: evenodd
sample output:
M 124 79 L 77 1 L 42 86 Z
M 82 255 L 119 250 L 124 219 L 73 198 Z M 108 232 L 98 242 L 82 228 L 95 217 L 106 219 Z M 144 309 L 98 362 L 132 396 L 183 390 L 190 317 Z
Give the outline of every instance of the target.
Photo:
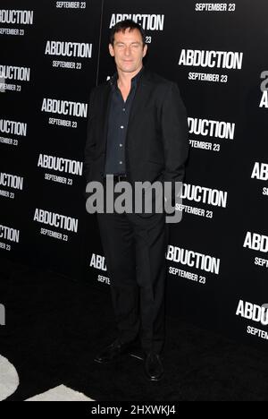
M 147 45 L 143 45 L 138 29 L 126 29 L 114 34 L 113 45 L 109 44 L 111 56 L 116 67 L 123 73 L 135 73 L 142 67 L 142 59 L 147 54 Z

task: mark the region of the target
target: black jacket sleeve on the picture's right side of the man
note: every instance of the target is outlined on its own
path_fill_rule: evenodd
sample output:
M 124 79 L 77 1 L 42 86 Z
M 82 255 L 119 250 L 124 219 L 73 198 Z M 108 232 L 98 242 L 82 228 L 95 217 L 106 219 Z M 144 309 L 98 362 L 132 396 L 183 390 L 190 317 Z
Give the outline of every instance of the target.
M 163 99 L 162 138 L 165 168 L 163 181 L 182 182 L 188 158 L 188 118 L 180 90 L 171 82 Z

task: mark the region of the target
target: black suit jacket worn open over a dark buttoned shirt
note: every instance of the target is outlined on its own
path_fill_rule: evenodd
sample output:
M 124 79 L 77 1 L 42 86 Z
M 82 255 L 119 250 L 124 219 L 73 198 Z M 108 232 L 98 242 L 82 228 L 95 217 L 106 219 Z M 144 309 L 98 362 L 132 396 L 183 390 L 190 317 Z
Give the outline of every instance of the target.
M 102 182 L 111 85 L 91 91 L 84 175 Z M 182 181 L 188 158 L 188 121 L 178 85 L 144 68 L 130 110 L 125 162 L 128 181 Z

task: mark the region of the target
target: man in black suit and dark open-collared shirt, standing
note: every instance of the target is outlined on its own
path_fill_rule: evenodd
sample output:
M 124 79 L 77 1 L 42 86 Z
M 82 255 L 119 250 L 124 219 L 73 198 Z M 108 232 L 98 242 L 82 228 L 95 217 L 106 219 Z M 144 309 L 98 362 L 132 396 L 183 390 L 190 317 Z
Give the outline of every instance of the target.
M 188 157 L 186 109 L 176 83 L 143 65 L 144 30 L 134 21 L 117 23 L 109 51 L 116 73 L 97 86 L 89 100 L 85 149 L 87 182 L 181 182 Z M 128 352 L 138 337 L 145 353 L 147 378 L 163 376 L 165 214 L 97 213 L 111 279 L 118 337 L 96 362 Z

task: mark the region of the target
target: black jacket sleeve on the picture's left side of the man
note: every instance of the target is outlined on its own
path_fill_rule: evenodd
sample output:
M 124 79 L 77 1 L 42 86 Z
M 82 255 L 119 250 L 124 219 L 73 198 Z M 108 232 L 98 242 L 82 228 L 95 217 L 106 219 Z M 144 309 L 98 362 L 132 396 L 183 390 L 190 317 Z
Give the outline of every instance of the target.
M 89 96 L 88 104 L 88 125 L 87 125 L 87 140 L 84 149 L 84 165 L 83 165 L 83 176 L 88 181 L 88 175 L 91 168 L 92 159 L 94 156 L 94 150 L 96 146 L 96 138 L 94 136 L 94 97 L 96 88 L 93 88 Z

